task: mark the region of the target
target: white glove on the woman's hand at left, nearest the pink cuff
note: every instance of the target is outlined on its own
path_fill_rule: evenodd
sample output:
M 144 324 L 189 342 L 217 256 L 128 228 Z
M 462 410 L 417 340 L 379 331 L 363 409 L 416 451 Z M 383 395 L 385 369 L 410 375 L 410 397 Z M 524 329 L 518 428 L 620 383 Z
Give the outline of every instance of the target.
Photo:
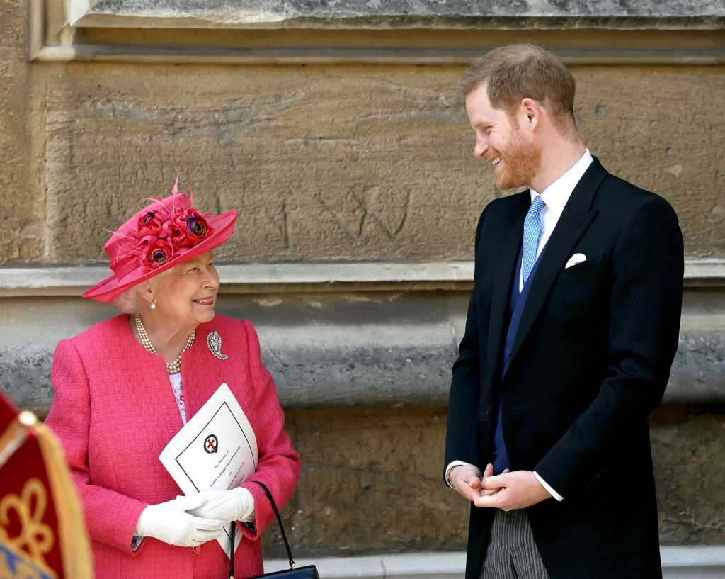
M 224 533 L 223 520 L 203 519 L 187 512 L 203 502 L 196 494 L 149 505 L 138 517 L 134 535 L 154 537 L 180 547 L 196 547 L 218 538 Z

